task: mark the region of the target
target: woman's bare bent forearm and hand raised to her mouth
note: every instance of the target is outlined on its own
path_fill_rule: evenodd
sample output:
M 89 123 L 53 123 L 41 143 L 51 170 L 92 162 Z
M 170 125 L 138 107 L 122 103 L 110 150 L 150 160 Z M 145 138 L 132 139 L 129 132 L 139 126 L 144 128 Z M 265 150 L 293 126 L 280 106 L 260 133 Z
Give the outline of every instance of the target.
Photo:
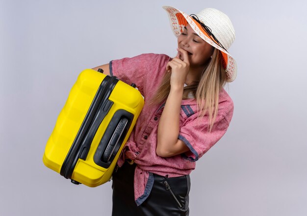
M 186 144 L 178 139 L 183 85 L 189 70 L 187 52 L 182 49 L 179 52 L 183 54 L 183 61 L 175 57 L 166 66 L 167 69 L 172 69 L 172 75 L 171 90 L 158 125 L 156 154 L 160 157 L 171 157 L 189 151 Z

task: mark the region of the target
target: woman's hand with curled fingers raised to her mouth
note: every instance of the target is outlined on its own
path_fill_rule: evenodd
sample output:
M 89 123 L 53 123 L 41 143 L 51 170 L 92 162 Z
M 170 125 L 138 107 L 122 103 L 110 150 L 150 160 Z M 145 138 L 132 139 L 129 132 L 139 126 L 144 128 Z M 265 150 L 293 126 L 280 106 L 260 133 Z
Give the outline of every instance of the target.
M 166 70 L 172 72 L 171 87 L 183 87 L 186 76 L 189 72 L 190 62 L 188 52 L 178 48 L 178 54 L 166 65 Z M 183 60 L 179 58 L 179 55 Z

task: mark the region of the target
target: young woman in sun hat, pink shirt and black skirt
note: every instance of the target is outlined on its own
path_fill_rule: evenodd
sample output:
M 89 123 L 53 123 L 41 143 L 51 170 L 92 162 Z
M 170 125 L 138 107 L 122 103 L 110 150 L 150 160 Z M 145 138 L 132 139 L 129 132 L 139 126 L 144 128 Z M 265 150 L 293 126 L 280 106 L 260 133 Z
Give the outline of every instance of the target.
M 136 83 L 145 98 L 113 173 L 113 216 L 188 215 L 189 174 L 232 117 L 223 88 L 236 77 L 230 19 L 213 8 L 190 16 L 163 8 L 178 37 L 176 57 L 141 54 L 94 68 Z

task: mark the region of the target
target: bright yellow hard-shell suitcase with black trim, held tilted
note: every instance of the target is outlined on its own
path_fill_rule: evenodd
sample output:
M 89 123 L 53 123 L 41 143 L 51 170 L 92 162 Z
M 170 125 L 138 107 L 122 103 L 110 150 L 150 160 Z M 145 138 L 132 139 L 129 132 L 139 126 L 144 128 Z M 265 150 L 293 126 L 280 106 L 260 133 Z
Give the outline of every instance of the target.
M 135 84 L 86 69 L 80 73 L 46 144 L 44 164 L 74 184 L 110 180 L 143 106 Z

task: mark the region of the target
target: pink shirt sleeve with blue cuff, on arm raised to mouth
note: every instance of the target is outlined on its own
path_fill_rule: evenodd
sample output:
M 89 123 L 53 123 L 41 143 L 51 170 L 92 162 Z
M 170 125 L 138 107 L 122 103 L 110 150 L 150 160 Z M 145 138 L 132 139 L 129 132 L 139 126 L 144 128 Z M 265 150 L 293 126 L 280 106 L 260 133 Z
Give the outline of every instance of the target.
M 228 115 L 217 116 L 210 133 L 208 132 L 208 116 L 205 115 L 201 119 L 197 117 L 191 120 L 187 119 L 180 128 L 178 138 L 189 147 L 190 151 L 182 156 L 191 162 L 201 158 L 226 133 L 232 111 L 233 107 L 230 108 Z

